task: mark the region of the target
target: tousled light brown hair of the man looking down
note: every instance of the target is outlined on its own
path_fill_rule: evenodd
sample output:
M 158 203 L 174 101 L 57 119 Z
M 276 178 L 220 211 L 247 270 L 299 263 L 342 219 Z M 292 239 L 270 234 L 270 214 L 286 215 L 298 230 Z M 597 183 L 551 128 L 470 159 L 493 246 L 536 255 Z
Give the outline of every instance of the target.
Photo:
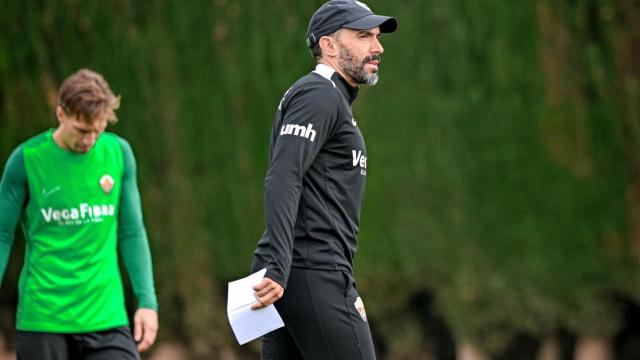
M 76 115 L 87 123 L 106 112 L 109 124 L 118 122 L 115 111 L 120 96 L 115 96 L 107 81 L 95 71 L 81 69 L 64 80 L 58 91 L 58 105 L 67 115 Z

